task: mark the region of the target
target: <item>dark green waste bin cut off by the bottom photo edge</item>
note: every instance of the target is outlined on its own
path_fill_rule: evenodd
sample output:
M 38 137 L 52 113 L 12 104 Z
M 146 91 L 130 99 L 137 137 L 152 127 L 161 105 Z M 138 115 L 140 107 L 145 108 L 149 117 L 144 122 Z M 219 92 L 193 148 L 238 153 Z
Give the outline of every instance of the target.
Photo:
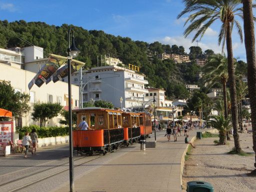
M 186 183 L 186 192 L 214 192 L 214 189 L 208 182 L 190 181 Z

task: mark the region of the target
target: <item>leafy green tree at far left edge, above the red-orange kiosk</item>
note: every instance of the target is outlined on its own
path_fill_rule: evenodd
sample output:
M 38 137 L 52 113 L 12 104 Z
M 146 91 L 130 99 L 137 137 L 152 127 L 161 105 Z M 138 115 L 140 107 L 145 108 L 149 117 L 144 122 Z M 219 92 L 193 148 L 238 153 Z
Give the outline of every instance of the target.
M 8 81 L 0 82 L 0 108 L 12 112 L 12 116 L 20 117 L 30 110 L 30 96 L 24 92 L 15 92 Z

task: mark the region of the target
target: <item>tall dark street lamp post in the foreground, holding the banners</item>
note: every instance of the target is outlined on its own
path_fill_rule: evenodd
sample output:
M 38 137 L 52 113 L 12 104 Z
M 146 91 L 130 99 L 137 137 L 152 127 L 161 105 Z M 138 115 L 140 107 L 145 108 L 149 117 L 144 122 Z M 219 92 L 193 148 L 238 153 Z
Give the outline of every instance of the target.
M 72 44 L 70 46 L 70 31 L 72 32 Z M 73 172 L 73 144 L 72 144 L 72 109 L 71 109 L 71 63 L 70 60 L 79 54 L 78 48 L 74 44 L 74 35 L 71 28 L 68 29 L 68 48 L 67 48 L 67 69 L 68 69 L 68 130 L 69 130 L 69 190 L 74 189 Z

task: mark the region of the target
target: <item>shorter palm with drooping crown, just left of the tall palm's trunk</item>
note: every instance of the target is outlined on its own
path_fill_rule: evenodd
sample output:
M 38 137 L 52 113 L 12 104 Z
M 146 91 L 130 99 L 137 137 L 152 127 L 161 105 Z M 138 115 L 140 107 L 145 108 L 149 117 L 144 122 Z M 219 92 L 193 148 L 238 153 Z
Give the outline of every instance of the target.
M 222 83 L 223 90 L 223 101 L 224 101 L 224 116 L 227 118 L 227 98 L 226 98 L 226 82 L 228 79 L 227 72 L 227 58 L 221 54 L 216 54 L 209 57 L 208 61 L 202 68 L 203 76 L 202 78 L 211 87 L 216 81 Z

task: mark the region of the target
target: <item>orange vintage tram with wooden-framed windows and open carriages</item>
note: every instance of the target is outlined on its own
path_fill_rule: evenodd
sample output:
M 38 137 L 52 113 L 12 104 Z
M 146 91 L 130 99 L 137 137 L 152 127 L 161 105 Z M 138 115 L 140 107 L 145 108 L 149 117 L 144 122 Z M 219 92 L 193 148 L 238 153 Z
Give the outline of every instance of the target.
M 77 127 L 85 117 L 88 126 L 94 129 L 72 131 L 73 148 L 80 154 L 105 154 L 152 133 L 151 114 L 148 112 L 127 112 L 100 107 L 74 109 L 73 112 L 77 116 Z

